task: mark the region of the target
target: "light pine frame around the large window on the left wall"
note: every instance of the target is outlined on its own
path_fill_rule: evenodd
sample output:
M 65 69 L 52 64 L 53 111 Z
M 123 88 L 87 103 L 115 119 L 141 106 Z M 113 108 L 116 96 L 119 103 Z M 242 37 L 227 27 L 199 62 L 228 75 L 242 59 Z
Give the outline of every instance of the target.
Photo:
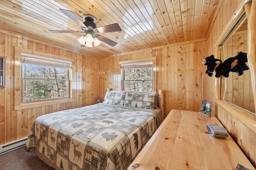
M 61 104 L 66 102 L 73 102 L 74 99 L 72 98 L 72 66 L 70 68 L 70 80 L 69 80 L 69 97 L 68 98 L 60 98 L 60 99 L 47 99 L 47 100 L 40 100 L 40 101 L 31 101 L 31 102 L 22 102 L 22 80 L 21 80 L 21 54 L 28 53 L 30 55 L 38 55 L 42 57 L 49 57 L 52 59 L 60 59 L 64 61 L 72 62 L 74 64 L 75 60 L 70 59 L 68 57 L 62 57 L 58 55 L 52 55 L 48 53 L 42 53 L 39 51 L 32 51 L 29 49 L 23 49 L 20 47 L 15 47 L 15 61 L 14 61 L 14 110 L 19 109 L 27 109 L 32 107 L 40 107 L 40 106 L 48 106 L 53 104 Z

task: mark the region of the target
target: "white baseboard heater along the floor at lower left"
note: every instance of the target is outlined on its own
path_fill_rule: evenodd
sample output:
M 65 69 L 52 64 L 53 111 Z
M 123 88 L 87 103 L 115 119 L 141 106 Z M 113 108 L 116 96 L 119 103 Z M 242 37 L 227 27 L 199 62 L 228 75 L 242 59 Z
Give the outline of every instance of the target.
M 0 145 L 0 155 L 24 147 L 26 145 L 27 139 L 28 137 L 24 137 L 22 139 Z

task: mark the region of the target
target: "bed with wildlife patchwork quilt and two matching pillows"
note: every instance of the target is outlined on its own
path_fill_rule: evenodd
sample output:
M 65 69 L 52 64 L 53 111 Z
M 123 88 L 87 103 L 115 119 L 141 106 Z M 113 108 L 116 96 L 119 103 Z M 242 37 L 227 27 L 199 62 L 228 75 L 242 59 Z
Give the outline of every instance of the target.
M 67 170 L 125 170 L 161 124 L 154 92 L 107 92 L 104 102 L 42 115 L 25 151 Z

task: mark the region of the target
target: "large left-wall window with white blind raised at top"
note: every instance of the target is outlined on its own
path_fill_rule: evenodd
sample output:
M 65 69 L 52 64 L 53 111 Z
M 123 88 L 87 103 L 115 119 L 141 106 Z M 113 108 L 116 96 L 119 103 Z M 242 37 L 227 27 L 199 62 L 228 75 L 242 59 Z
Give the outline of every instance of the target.
M 21 102 L 70 97 L 72 62 L 21 53 Z

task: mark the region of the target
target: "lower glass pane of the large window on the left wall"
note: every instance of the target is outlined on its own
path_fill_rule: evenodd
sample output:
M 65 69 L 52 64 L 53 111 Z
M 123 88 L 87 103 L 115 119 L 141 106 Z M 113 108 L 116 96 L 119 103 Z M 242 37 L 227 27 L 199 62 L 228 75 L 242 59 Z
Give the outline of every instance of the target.
M 66 80 L 23 80 L 23 102 L 68 97 Z

